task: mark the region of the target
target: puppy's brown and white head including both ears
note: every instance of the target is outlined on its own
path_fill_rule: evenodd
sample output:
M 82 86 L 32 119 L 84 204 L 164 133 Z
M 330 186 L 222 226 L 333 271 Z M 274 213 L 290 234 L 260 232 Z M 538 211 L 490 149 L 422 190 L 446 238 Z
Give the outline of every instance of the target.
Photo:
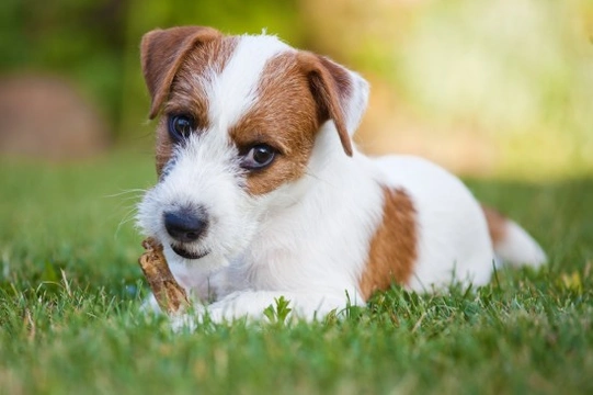
M 187 26 L 147 33 L 141 63 L 150 119 L 160 114 L 159 182 L 138 221 L 169 260 L 228 262 L 272 207 L 306 193 L 293 187 L 313 155 L 353 154 L 368 87 L 326 57 L 274 36 Z M 331 147 L 318 153 L 322 133 Z

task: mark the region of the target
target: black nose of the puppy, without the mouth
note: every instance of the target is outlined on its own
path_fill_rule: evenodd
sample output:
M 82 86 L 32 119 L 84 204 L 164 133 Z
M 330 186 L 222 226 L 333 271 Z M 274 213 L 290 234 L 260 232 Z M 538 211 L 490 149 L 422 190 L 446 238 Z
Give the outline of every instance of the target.
M 167 233 L 181 242 L 197 240 L 208 227 L 208 217 L 204 210 L 181 208 L 167 212 L 163 216 Z

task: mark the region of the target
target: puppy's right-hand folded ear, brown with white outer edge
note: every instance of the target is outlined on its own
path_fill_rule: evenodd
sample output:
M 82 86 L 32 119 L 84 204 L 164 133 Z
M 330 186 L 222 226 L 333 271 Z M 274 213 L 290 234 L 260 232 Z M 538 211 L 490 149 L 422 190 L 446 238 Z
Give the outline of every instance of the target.
M 354 71 L 309 52 L 298 54 L 317 102 L 321 122 L 332 120 L 347 156 L 352 156 L 352 135 L 366 110 L 368 82 Z

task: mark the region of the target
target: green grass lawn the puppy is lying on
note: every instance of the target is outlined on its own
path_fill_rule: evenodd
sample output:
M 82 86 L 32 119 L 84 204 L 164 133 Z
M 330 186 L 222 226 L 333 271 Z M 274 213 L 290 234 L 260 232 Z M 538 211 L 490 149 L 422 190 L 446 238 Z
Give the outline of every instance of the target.
M 343 319 L 172 334 L 147 293 L 130 210 L 150 155 L 0 159 L 0 393 L 593 393 L 593 180 L 470 180 L 550 257 L 479 290 L 377 294 Z

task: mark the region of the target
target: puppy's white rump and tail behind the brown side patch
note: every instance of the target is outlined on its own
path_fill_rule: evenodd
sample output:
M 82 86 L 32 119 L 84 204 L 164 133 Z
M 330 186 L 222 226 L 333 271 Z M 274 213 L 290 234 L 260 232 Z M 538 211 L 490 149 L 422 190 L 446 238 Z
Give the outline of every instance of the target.
M 467 187 L 441 167 L 413 156 L 376 159 L 385 182 L 407 191 L 414 204 L 419 256 L 413 290 L 455 281 L 481 285 L 494 264 L 546 261 L 539 245 L 516 223 L 480 205 Z

